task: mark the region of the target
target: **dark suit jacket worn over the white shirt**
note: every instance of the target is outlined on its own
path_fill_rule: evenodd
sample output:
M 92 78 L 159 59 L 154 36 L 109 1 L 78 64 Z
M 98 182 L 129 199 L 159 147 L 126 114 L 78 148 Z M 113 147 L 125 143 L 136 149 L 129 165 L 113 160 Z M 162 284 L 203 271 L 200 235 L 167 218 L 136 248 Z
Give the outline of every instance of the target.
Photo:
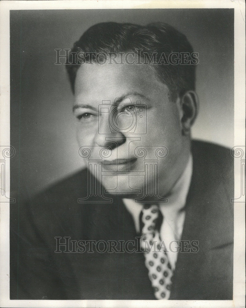
M 233 158 L 228 149 L 200 141 L 192 142 L 192 155 L 181 241 L 198 241 L 199 251 L 178 254 L 170 299 L 232 299 Z M 73 252 L 55 252 L 57 237 L 60 243 L 101 240 L 103 251 L 102 240 L 139 236 L 119 197 L 77 202 L 87 195 L 86 178 L 82 170 L 19 205 L 18 217 L 11 214 L 11 299 L 155 299 L 136 245 L 137 252 L 80 253 L 69 242 L 60 248 Z

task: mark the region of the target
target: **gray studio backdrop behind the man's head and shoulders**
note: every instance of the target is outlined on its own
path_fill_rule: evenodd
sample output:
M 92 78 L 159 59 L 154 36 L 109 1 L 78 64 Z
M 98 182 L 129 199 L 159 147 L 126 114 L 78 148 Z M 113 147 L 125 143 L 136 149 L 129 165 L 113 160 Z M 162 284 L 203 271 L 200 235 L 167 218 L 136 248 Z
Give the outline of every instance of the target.
M 83 167 L 73 95 L 55 49 L 71 48 L 97 22 L 167 22 L 199 52 L 195 138 L 233 146 L 233 9 L 21 10 L 10 13 L 11 197 L 30 197 Z M 69 189 L 69 188 L 68 188 Z

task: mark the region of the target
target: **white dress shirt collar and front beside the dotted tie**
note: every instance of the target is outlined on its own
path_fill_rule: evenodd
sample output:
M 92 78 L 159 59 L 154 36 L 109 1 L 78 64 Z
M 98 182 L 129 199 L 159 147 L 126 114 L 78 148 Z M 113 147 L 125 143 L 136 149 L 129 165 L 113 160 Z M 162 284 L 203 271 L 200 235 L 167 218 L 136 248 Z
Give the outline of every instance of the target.
M 168 196 L 167 203 L 158 203 L 163 215 L 163 222 L 160 229 L 161 240 L 164 241 L 167 248 L 167 255 L 172 269 L 175 269 L 178 246 L 183 232 L 185 221 L 185 210 L 183 209 L 186 203 L 186 197 L 190 187 L 192 176 L 192 155 L 189 156 L 187 166 L 179 180 L 174 185 Z M 133 199 L 124 198 L 125 207 L 132 215 L 136 231 L 140 232 L 139 216 L 143 205 L 135 203 Z M 154 204 L 154 202 L 153 202 Z

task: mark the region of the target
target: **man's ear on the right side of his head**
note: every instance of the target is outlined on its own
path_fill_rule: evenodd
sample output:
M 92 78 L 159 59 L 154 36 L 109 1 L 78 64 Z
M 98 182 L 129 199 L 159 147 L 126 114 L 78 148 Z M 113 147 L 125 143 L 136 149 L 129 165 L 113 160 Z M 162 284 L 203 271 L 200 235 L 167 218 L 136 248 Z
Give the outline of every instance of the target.
M 188 136 L 190 129 L 196 120 L 199 109 L 198 96 L 195 91 L 187 91 L 181 97 L 181 127 L 182 135 Z

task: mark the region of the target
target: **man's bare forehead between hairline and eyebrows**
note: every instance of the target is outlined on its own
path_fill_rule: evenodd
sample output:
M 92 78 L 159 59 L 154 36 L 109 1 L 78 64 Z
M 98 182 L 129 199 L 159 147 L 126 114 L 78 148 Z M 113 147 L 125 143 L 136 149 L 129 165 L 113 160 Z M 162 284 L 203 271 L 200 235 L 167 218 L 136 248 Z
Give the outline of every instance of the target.
M 168 88 L 154 67 L 144 64 L 85 63 L 75 79 L 75 99 L 79 100 L 114 99 L 128 92 L 151 96 L 157 91 L 168 92 Z

